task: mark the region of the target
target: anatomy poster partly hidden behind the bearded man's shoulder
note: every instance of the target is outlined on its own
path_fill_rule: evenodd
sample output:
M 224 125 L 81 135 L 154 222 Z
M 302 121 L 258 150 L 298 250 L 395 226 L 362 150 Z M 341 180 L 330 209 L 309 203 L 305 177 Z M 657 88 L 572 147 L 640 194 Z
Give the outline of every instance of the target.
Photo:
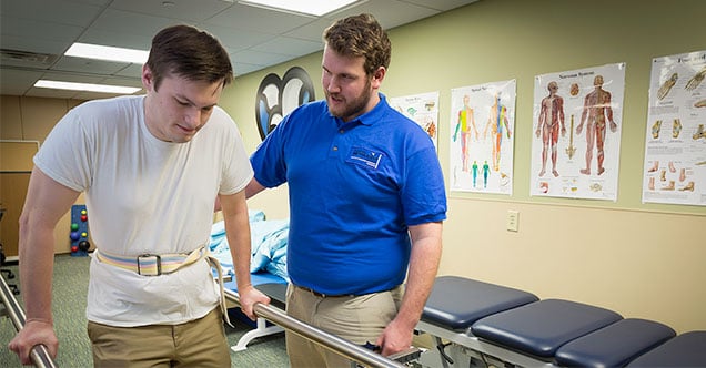
M 402 98 L 391 98 L 390 105 L 415 121 L 434 141 L 434 146 L 438 151 L 438 139 L 436 134 L 438 122 L 438 92 L 407 95 Z

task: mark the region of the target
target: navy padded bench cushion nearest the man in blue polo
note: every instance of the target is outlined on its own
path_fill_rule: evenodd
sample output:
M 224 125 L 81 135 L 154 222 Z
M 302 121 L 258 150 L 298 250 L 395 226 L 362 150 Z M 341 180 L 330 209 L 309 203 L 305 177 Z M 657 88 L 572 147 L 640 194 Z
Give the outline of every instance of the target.
M 527 292 L 457 276 L 440 276 L 422 319 L 452 330 L 467 330 L 476 320 L 538 298 Z

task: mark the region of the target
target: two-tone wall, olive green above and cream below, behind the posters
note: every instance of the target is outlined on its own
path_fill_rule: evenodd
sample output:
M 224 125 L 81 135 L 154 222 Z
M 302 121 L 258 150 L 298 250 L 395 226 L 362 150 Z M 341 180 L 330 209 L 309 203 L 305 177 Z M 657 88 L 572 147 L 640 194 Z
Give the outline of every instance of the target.
M 451 89 L 515 79 L 514 193 L 450 193 L 440 275 L 602 306 L 677 331 L 706 329 L 706 208 L 642 204 L 653 58 L 706 49 L 706 1 L 481 0 L 390 31 L 390 96 L 438 91 L 440 160 L 447 174 Z M 625 62 L 618 201 L 530 196 L 534 76 Z M 321 99 L 321 53 L 240 76 L 223 95 L 252 151 L 255 92 L 268 73 L 309 71 Z M 286 186 L 252 208 L 289 216 Z M 506 231 L 508 211 L 518 232 Z M 645 300 L 648 300 L 647 303 Z

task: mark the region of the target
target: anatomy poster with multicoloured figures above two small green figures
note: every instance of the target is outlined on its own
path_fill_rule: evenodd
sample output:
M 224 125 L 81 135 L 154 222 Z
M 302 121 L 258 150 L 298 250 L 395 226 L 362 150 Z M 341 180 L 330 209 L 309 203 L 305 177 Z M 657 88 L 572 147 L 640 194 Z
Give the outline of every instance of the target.
M 451 191 L 512 195 L 516 86 L 451 90 Z

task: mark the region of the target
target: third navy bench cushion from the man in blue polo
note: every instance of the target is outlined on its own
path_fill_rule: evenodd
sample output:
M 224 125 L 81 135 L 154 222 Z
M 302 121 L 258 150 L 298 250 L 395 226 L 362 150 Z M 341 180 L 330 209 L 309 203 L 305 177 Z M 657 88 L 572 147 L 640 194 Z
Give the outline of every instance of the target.
M 559 347 L 555 360 L 565 367 L 624 367 L 674 336 L 660 323 L 625 318 Z

